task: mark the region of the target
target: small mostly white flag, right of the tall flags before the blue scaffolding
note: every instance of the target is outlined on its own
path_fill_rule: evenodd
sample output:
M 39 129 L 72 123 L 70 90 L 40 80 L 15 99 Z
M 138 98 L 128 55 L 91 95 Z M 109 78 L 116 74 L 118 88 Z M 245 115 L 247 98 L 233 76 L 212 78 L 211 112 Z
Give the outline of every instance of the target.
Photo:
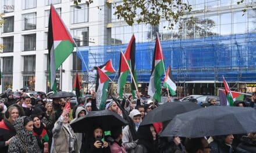
M 177 89 L 177 86 L 172 77 L 172 70 L 170 69 L 170 65 L 166 71 L 165 79 L 163 80 L 163 86 L 169 89 L 169 92 L 170 92 L 170 94 L 172 94 L 172 96 L 174 96 L 176 94 L 175 91 Z

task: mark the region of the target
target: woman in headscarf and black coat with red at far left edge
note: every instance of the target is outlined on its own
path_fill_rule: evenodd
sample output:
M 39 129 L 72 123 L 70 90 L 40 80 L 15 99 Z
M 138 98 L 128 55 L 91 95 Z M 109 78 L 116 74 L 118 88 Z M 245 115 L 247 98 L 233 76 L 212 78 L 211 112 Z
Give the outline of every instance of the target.
M 10 140 L 16 134 L 13 123 L 23 115 L 22 107 L 17 104 L 10 105 L 5 111 L 5 118 L 0 122 L 0 153 L 8 152 Z

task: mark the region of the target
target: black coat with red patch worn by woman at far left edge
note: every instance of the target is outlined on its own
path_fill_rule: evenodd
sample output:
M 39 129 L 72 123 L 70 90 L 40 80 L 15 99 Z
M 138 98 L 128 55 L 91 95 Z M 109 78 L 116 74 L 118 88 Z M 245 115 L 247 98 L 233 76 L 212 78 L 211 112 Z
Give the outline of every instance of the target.
M 8 146 L 5 146 L 5 141 L 8 141 L 15 134 L 14 126 L 6 119 L 3 119 L 0 122 L 0 153 L 8 152 Z

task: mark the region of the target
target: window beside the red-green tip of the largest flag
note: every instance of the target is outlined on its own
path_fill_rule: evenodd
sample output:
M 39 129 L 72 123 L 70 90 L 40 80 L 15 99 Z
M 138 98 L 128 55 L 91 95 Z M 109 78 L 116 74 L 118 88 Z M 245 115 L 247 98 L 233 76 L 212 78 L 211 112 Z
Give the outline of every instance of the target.
M 77 46 L 88 46 L 88 27 L 73 29 L 72 35 Z

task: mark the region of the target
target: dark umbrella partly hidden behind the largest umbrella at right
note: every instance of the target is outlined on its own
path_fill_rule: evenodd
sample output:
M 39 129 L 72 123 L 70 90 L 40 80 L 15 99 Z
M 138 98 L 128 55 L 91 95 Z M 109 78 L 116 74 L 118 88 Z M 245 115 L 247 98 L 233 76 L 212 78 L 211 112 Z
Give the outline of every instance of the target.
M 200 108 L 200 106 L 191 103 L 190 101 L 177 101 L 171 103 L 168 102 L 149 112 L 143 118 L 143 121 L 140 125 L 169 121 L 170 119 L 173 119 L 177 114 L 182 114 L 184 112 L 193 111 Z

